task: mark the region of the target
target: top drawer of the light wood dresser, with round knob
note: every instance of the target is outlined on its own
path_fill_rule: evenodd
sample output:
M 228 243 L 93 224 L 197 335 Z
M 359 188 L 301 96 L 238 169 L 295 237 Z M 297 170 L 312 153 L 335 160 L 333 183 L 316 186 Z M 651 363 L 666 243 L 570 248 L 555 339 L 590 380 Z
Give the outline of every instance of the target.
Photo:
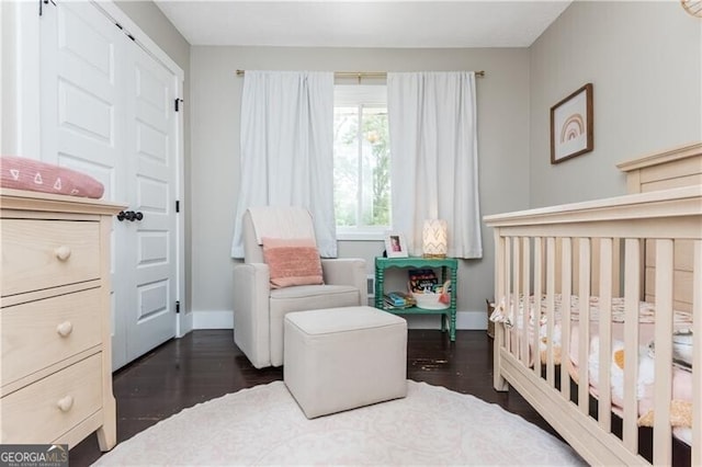
M 100 277 L 97 221 L 2 219 L 2 296 Z

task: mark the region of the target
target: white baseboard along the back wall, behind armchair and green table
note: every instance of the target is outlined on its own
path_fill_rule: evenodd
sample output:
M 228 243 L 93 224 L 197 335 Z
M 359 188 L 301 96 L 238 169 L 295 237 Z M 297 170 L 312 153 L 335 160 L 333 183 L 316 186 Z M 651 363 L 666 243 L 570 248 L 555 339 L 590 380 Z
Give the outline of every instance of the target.
M 231 310 L 204 310 L 193 311 L 191 329 L 234 329 L 234 311 Z M 407 318 L 409 329 L 440 329 L 441 321 L 438 315 L 403 315 Z M 456 312 L 456 329 L 460 330 L 486 330 L 487 315 L 482 311 Z

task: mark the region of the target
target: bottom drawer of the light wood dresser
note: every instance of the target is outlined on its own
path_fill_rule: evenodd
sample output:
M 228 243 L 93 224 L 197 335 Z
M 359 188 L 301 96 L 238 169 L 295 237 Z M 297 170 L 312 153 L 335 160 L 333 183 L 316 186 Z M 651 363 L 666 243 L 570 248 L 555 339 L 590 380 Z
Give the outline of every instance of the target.
M 102 406 L 100 353 L 0 399 L 0 443 L 52 443 Z

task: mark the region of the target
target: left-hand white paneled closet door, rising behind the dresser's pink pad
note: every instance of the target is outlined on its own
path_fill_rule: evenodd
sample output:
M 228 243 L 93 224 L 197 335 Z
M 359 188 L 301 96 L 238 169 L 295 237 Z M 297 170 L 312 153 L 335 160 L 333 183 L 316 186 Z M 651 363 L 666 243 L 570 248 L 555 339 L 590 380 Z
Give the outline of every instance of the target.
M 122 201 L 126 167 L 122 87 L 128 41 L 88 2 L 44 8 L 42 33 L 42 159 L 87 172 Z

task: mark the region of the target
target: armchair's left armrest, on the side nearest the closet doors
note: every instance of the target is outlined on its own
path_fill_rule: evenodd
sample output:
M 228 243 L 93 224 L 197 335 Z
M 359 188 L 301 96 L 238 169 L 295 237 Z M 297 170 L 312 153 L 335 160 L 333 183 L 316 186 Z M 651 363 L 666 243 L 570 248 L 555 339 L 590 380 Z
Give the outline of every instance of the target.
M 234 342 L 253 366 L 270 366 L 270 271 L 268 264 L 234 267 Z

